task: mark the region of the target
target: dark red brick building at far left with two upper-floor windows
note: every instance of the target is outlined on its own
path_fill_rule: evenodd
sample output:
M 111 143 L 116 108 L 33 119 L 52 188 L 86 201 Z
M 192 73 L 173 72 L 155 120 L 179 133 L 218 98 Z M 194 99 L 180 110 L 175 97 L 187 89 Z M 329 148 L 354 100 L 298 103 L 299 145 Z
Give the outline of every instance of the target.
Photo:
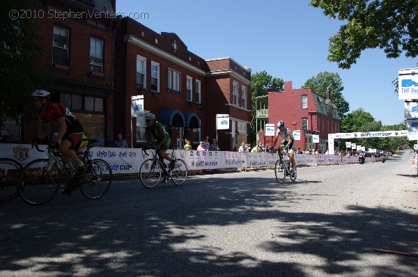
M 40 66 L 54 79 L 42 89 L 75 113 L 89 138 L 113 143 L 116 0 L 38 3 L 38 14 L 44 15 L 36 19 L 44 38 Z M 38 128 L 24 125 L 22 141 L 31 141 Z

